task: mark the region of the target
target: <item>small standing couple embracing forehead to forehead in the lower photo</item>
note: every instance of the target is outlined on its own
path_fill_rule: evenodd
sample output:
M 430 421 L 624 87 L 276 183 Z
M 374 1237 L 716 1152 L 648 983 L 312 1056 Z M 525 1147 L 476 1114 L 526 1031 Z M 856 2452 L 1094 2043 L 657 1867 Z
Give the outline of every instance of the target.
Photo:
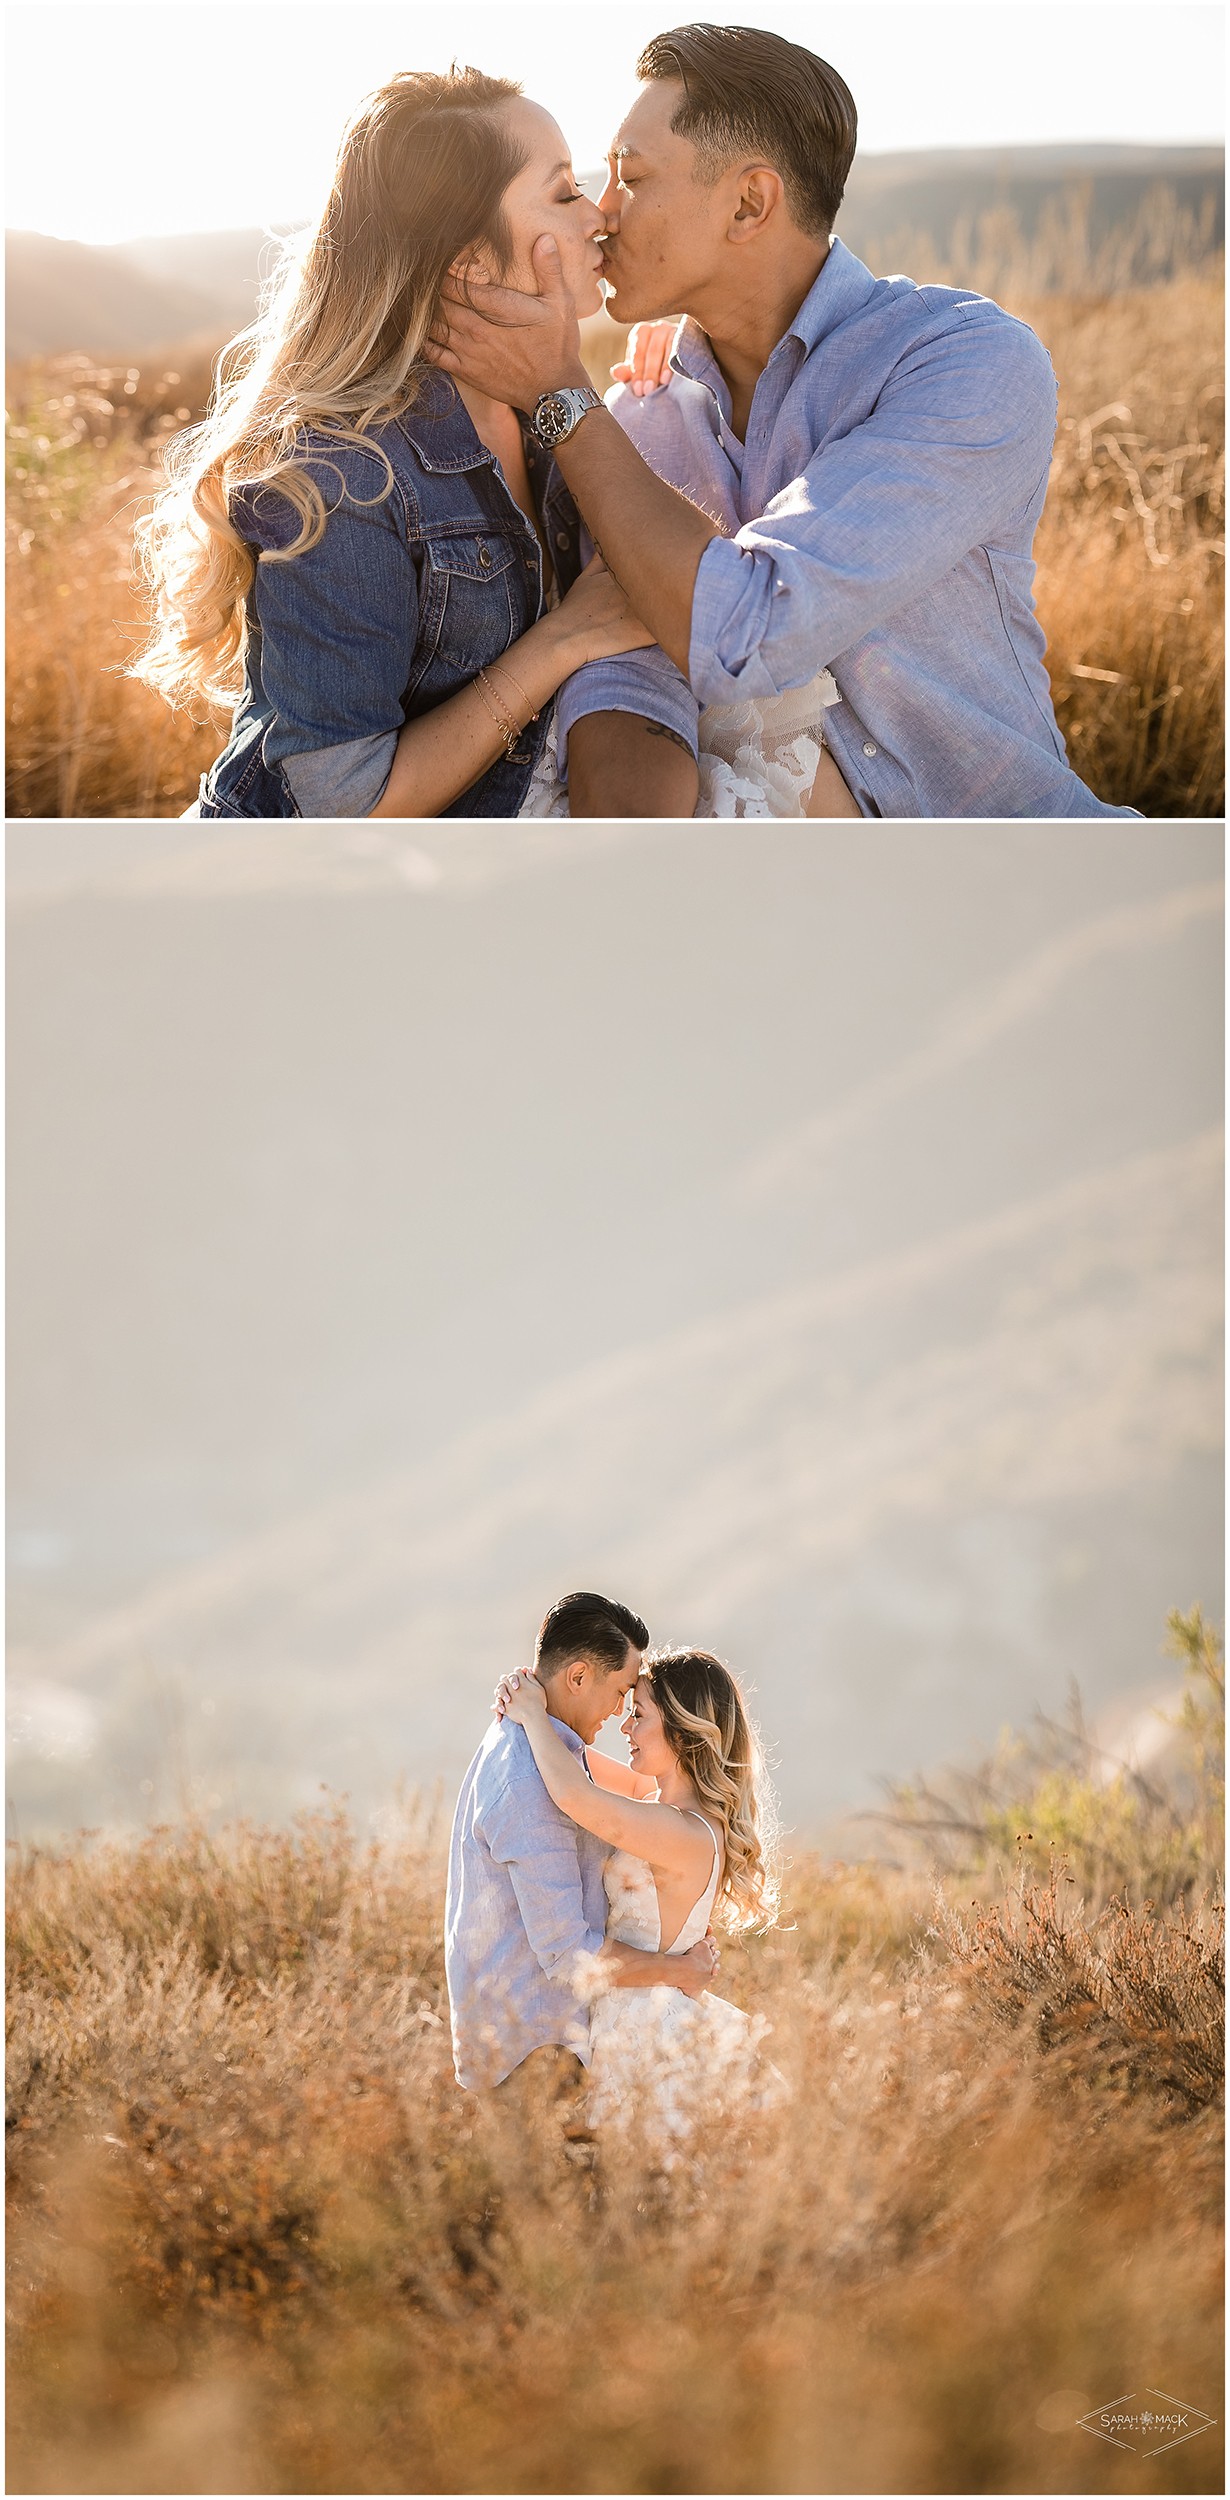
M 560 1598 L 508 1675 L 452 1820 L 445 1970 L 458 2082 L 545 2090 L 670 2170 L 702 2115 L 780 2092 L 762 2022 L 712 1995 L 710 1925 L 765 1928 L 775 1878 L 730 1670 L 658 1650 L 625 1605 Z M 628 1762 L 595 1750 L 622 1718 Z

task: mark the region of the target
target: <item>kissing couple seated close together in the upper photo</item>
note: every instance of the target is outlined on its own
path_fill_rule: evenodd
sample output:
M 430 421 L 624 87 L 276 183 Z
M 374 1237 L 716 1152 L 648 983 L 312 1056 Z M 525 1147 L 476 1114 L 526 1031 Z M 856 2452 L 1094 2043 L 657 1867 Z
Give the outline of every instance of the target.
M 598 202 L 505 78 L 350 122 L 145 525 L 135 672 L 232 705 L 190 812 L 1135 815 L 1050 702 L 1035 332 L 832 235 L 858 120 L 815 52 L 685 25 L 638 78 Z

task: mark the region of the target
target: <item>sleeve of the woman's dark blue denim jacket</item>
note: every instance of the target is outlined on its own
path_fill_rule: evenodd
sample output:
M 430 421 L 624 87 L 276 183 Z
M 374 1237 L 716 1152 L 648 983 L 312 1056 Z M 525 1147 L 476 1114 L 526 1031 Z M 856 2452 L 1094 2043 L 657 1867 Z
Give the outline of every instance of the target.
M 368 815 L 405 725 L 418 635 L 418 575 L 398 488 L 362 445 L 302 462 L 325 498 L 325 532 L 300 555 L 300 515 L 278 488 L 248 490 L 235 525 L 258 550 L 260 682 L 275 710 L 265 752 L 302 815 Z

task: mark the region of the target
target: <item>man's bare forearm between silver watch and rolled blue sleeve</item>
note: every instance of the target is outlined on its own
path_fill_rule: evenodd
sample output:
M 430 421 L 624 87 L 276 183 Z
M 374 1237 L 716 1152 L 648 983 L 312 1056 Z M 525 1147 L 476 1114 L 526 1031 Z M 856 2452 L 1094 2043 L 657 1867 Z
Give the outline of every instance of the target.
M 688 675 L 695 578 L 710 538 L 722 532 L 688 495 L 655 478 L 610 408 L 592 408 L 555 448 L 555 460 L 638 618 Z

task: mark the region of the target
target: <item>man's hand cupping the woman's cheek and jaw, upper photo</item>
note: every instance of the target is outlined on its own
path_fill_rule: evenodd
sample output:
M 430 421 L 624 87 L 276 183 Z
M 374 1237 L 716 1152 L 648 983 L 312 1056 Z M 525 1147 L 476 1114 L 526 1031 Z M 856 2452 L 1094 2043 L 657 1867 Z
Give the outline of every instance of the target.
M 590 375 L 580 360 L 580 328 L 560 248 L 540 235 L 532 250 L 538 295 L 475 285 L 445 288 L 438 330 L 422 355 L 475 390 L 512 408 L 535 408 L 545 390 L 572 390 Z

